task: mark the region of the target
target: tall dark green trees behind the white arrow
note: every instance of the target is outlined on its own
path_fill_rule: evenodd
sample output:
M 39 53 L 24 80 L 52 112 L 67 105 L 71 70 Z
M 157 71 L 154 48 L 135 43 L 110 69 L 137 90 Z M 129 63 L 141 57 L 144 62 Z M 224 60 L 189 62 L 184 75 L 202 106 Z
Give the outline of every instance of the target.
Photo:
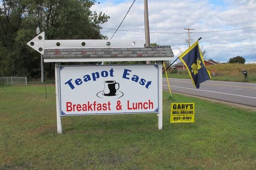
M 101 24 L 110 18 L 90 8 L 96 0 L 0 0 L 0 77 L 41 76 L 40 54 L 26 45 L 42 31 L 46 39 L 105 39 Z M 54 77 L 54 65 L 45 63 Z

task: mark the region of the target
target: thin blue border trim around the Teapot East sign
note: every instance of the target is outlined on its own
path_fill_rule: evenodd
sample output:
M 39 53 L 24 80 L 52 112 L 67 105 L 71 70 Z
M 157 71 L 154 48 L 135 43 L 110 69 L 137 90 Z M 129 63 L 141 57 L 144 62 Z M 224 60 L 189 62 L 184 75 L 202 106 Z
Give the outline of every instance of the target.
M 159 113 L 159 65 L 158 64 L 125 64 L 125 65 L 154 65 L 155 68 L 157 68 L 157 108 L 154 110 L 154 112 L 120 112 L 120 113 L 82 113 L 82 114 L 66 114 L 62 111 L 61 107 L 61 70 L 64 67 L 76 67 L 76 66 L 108 66 L 108 65 L 60 65 L 59 66 L 59 86 L 60 86 L 60 111 L 61 116 L 80 116 L 80 115 L 104 115 L 104 114 L 136 114 L 136 113 Z M 123 65 L 123 66 L 125 66 Z M 113 66 L 113 65 L 111 65 Z M 122 65 L 119 65 L 122 66 Z

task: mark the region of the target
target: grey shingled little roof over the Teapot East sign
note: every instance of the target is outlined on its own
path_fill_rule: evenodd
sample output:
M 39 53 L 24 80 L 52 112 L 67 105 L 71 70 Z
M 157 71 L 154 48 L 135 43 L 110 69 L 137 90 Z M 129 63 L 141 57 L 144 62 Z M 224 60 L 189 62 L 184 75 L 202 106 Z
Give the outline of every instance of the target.
M 57 60 L 63 62 L 79 59 L 84 59 L 84 61 L 110 61 L 113 58 L 115 61 L 145 61 L 148 58 L 150 60 L 168 60 L 171 57 L 174 57 L 174 54 L 169 45 L 145 46 L 144 48 L 56 48 L 44 50 L 45 62 L 52 62 L 52 59 L 54 62 L 58 62 Z

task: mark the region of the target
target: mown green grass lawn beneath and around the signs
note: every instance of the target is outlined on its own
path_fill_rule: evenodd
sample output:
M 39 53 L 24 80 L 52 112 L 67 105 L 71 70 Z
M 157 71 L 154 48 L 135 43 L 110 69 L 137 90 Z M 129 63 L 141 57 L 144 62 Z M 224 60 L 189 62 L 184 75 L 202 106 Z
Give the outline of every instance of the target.
M 256 112 L 163 92 L 156 114 L 66 116 L 55 86 L 0 88 L 0 170 L 256 168 Z M 171 102 L 195 102 L 195 123 L 170 124 Z

